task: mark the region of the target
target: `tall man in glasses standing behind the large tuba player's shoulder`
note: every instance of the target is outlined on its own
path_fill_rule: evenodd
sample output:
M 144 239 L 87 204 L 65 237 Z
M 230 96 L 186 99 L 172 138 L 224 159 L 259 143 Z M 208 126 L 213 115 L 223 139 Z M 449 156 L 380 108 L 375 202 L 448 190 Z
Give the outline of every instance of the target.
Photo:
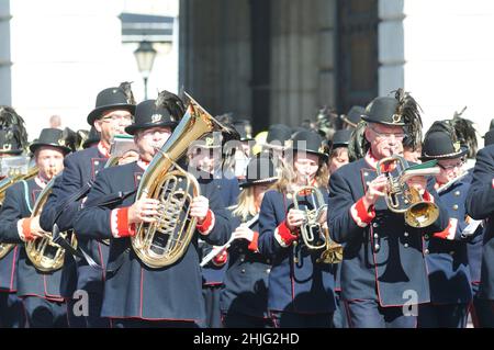
M 96 108 L 88 114 L 88 124 L 100 133 L 98 145 L 77 151 L 64 161 L 65 168 L 53 187 L 53 191 L 43 208 L 40 224 L 46 232 L 52 232 L 55 216 L 59 215 L 57 225 L 60 232 L 74 227 L 74 218 L 80 208 L 80 201 L 65 203 L 67 199 L 81 191 L 91 180 L 96 179 L 110 158 L 111 142 L 116 134 L 124 134 L 125 126 L 132 123 L 135 101 L 130 83 L 108 88 L 98 93 Z M 109 320 L 100 317 L 103 297 L 104 267 L 109 247 L 98 240 L 78 239 L 78 246 L 83 249 L 102 269 L 90 266 L 87 261 L 65 255 L 63 274 L 63 295 L 68 300 L 70 327 L 109 327 Z M 89 301 L 89 315 L 76 316 L 72 305 L 76 291 L 85 291 Z

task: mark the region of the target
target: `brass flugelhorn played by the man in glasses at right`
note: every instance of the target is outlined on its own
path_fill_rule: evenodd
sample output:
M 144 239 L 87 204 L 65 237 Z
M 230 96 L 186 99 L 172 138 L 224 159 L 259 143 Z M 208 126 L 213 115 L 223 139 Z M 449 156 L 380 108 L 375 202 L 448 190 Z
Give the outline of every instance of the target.
M 386 196 L 384 197 L 390 211 L 394 213 L 403 213 L 405 223 L 412 227 L 427 227 L 439 217 L 439 207 L 431 203 L 425 202 L 417 190 L 407 185 L 407 180 L 413 177 L 436 176 L 439 173 L 437 167 L 425 167 L 426 163 L 409 169 L 407 161 L 398 156 L 393 155 L 378 161 L 378 176 L 382 173 L 384 166 L 394 165 L 397 177 L 392 177 L 391 172 L 386 172 L 389 180 Z

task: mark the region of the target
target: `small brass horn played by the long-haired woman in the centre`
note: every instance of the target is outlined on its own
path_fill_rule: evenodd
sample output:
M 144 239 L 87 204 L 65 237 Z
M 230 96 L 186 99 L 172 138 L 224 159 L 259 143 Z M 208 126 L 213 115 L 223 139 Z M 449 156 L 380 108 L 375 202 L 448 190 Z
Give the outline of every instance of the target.
M 343 260 L 343 246 L 329 237 L 327 223 L 321 224 L 322 215 L 327 215 L 327 204 L 324 202 L 323 193 L 313 185 L 299 188 L 293 194 L 293 207 L 301 210 L 296 193 L 310 193 L 312 208 L 304 208 L 305 222 L 300 227 L 304 245 L 311 250 L 324 249 L 317 262 L 338 263 Z

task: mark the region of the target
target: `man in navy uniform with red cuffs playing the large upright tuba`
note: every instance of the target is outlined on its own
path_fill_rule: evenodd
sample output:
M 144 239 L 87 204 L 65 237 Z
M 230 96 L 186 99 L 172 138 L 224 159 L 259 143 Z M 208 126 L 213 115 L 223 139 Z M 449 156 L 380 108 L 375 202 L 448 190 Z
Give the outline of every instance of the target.
M 198 236 L 221 245 L 229 235 L 218 192 L 201 187 L 202 195 L 190 204 L 190 215 L 198 225 L 184 256 L 171 266 L 154 269 L 136 256 L 131 237 L 137 224 L 157 219 L 159 201 L 146 196 L 136 201 L 133 194 L 115 203 L 101 203 L 112 193 L 134 193 L 157 148 L 183 115 L 182 102 L 170 93 L 165 97 L 137 105 L 135 122 L 126 132 L 134 135 L 139 160 L 101 171 L 75 224 L 80 236 L 110 238 L 101 314 L 113 327 L 197 327 L 204 321 Z

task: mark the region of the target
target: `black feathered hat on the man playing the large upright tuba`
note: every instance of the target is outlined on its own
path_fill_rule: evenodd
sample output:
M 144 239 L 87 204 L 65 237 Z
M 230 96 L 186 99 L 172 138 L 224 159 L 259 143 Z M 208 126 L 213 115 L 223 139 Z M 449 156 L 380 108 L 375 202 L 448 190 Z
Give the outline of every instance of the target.
M 134 123 L 125 127 L 127 134 L 134 135 L 138 129 L 169 126 L 173 129 L 186 113 L 186 106 L 178 95 L 161 91 L 156 100 L 146 100 L 137 104 Z

